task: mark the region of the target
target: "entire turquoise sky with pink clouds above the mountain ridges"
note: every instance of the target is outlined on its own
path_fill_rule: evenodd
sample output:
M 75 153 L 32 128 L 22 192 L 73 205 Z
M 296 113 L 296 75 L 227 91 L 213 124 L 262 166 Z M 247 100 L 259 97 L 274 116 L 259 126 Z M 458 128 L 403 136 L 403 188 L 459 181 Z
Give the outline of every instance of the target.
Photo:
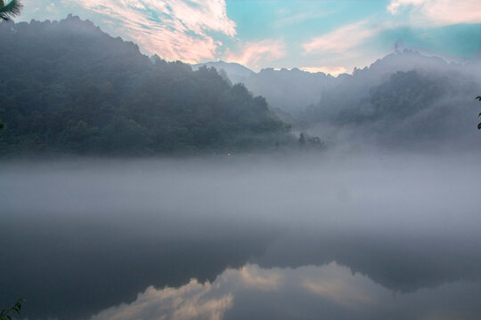
M 480 0 L 22 0 L 17 21 L 69 13 L 166 60 L 351 72 L 403 40 L 445 55 L 479 50 Z

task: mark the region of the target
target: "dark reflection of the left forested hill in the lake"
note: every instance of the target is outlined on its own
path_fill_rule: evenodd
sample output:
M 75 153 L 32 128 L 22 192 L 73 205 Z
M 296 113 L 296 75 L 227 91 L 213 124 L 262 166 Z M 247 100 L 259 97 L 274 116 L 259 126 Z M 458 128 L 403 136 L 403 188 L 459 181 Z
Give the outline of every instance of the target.
M 212 282 L 225 268 L 240 268 L 261 254 L 271 237 L 249 228 L 246 238 L 237 226 L 215 221 L 142 220 L 2 219 L 0 254 L 8 263 L 0 266 L 0 305 L 22 297 L 28 301 L 22 316 L 85 319 L 135 300 L 150 285 Z M 193 226 L 205 233 L 195 235 Z

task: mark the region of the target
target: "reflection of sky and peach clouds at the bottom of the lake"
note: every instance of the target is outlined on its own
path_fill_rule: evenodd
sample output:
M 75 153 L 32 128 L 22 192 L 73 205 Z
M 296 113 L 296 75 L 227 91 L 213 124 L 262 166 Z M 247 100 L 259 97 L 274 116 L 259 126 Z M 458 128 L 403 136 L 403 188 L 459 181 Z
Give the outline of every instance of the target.
M 476 319 L 480 297 L 481 284 L 463 281 L 393 294 L 334 262 L 294 269 L 248 264 L 213 283 L 151 286 L 91 319 Z

